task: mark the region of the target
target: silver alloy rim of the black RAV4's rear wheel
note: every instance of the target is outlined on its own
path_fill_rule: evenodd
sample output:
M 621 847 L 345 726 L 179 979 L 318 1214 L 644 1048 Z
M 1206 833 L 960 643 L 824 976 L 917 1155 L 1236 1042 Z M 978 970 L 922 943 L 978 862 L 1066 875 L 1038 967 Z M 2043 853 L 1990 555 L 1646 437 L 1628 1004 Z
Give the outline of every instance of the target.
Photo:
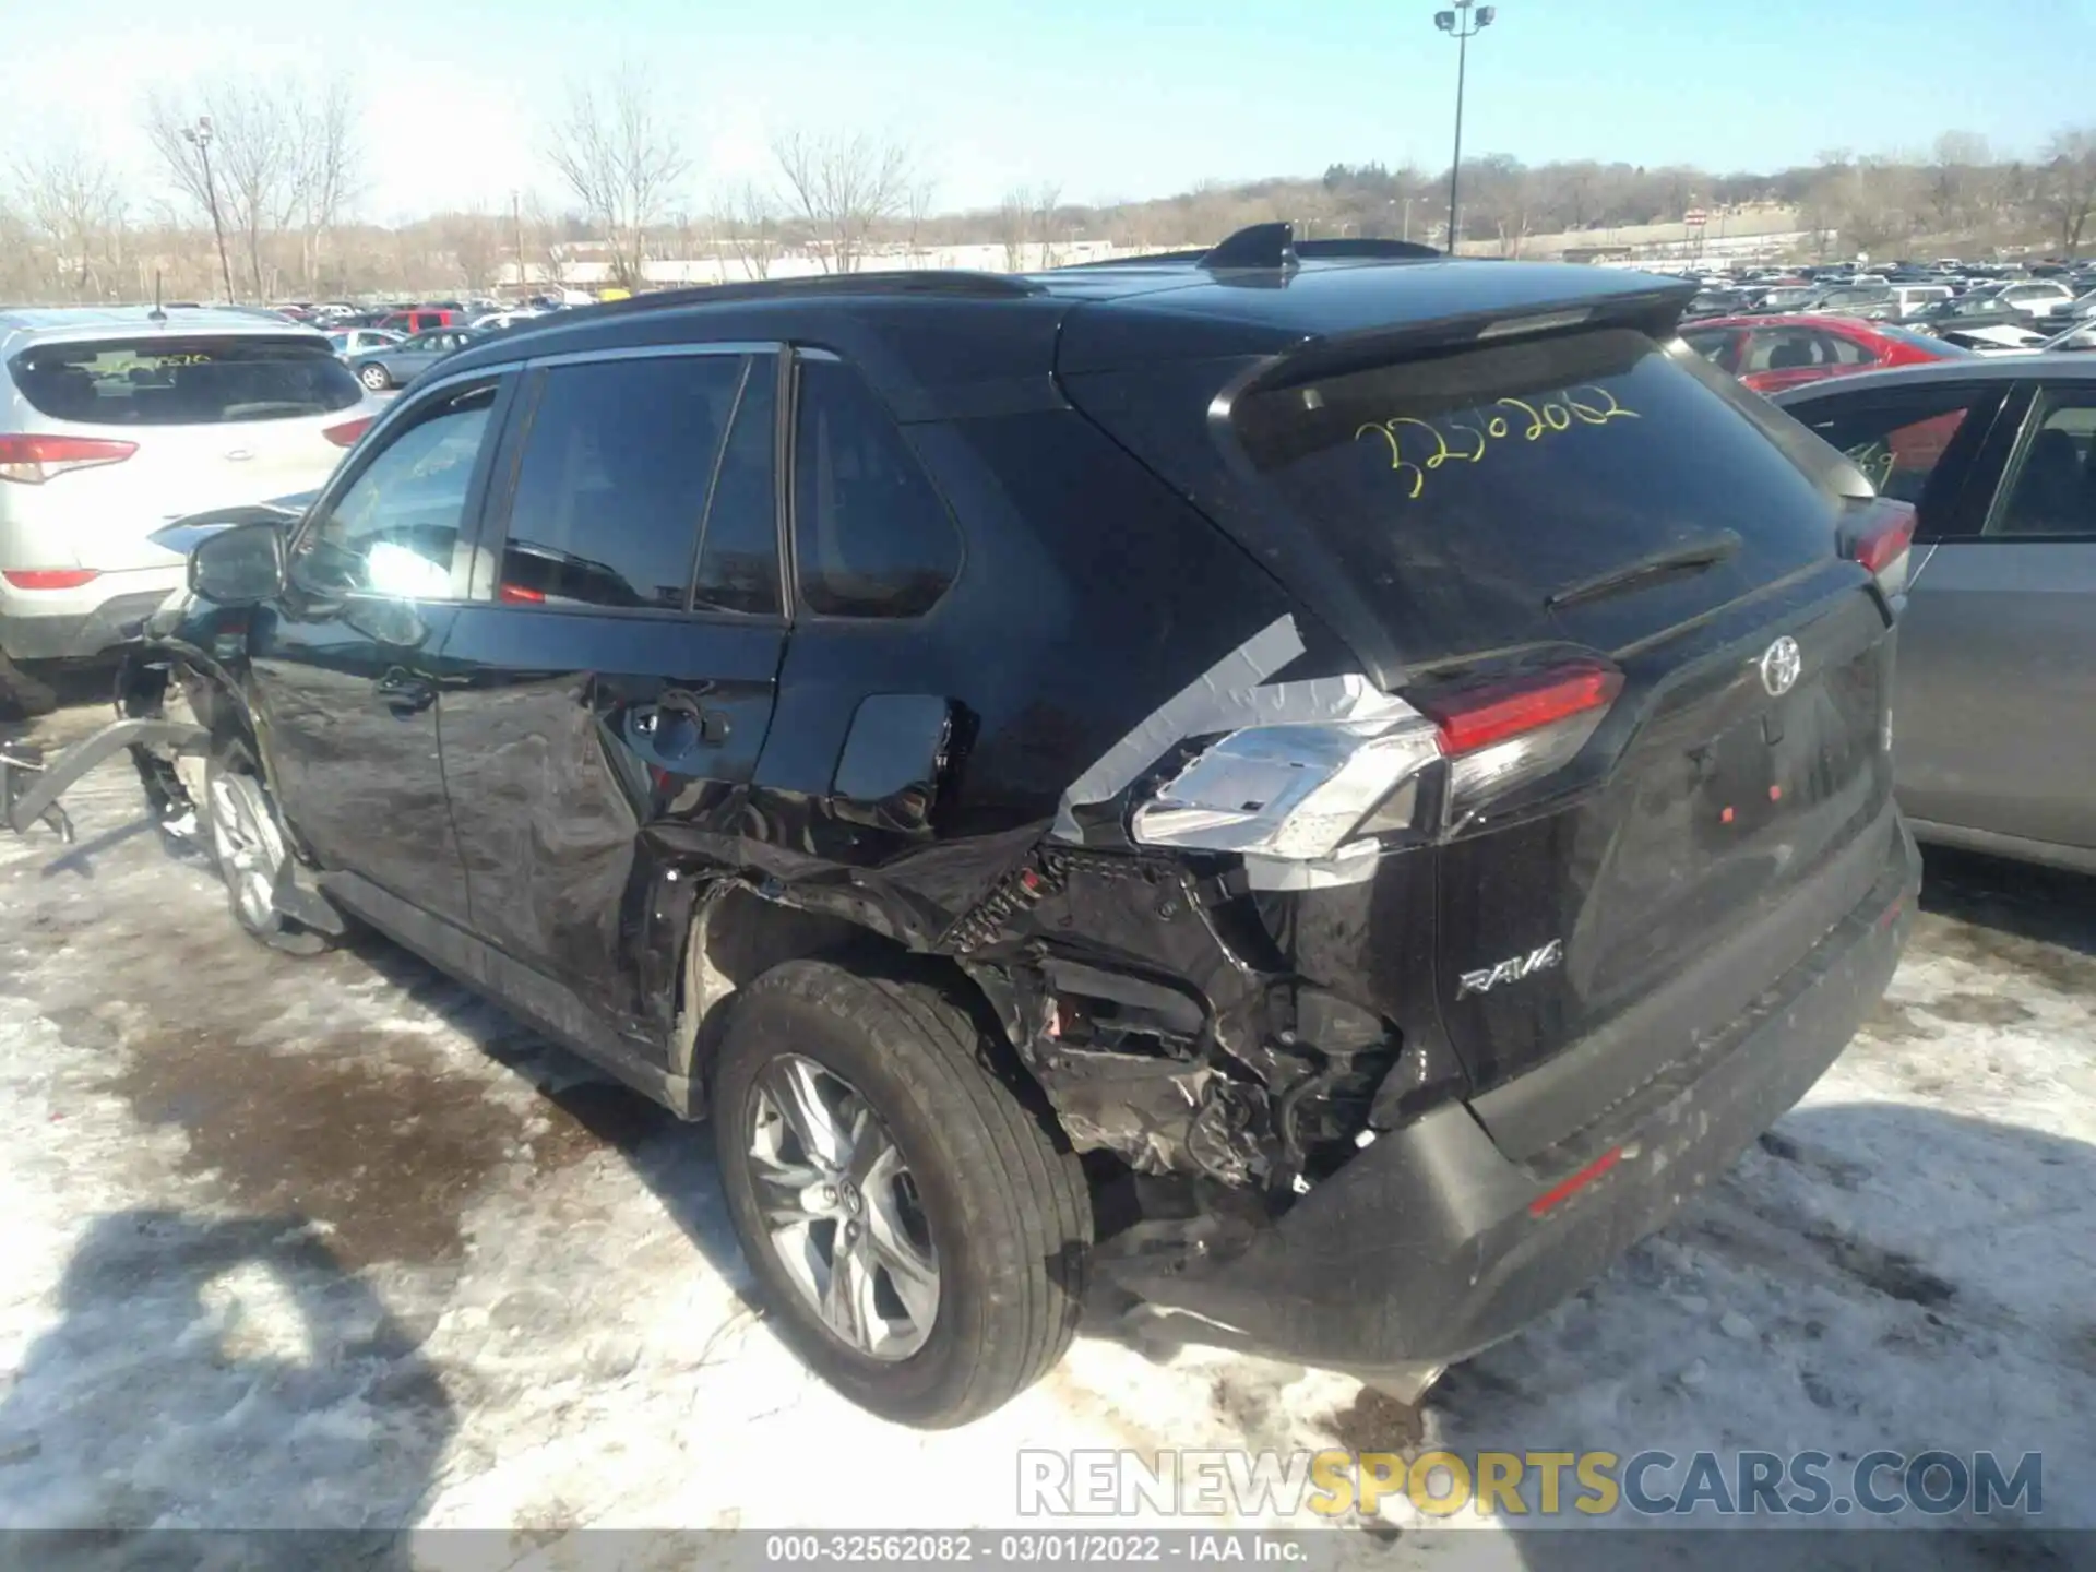
M 752 1098 L 750 1188 L 786 1274 L 849 1348 L 910 1358 L 939 1314 L 939 1256 L 895 1136 L 801 1054 L 773 1058 Z

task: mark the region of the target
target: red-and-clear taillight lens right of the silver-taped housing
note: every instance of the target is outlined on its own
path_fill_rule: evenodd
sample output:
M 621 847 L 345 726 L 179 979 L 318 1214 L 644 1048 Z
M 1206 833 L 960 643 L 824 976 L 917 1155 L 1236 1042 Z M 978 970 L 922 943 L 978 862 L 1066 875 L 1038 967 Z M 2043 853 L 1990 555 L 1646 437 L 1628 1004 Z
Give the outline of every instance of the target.
M 1478 687 L 1413 696 L 1448 757 L 1448 822 L 1570 763 L 1622 692 L 1622 673 L 1580 660 Z

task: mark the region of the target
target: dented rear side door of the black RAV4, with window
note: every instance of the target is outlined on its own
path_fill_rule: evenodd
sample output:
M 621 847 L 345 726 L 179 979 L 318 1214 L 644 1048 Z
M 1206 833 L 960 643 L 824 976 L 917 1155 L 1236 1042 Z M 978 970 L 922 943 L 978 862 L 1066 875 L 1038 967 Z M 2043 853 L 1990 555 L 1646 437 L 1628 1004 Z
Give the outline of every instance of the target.
M 643 1033 L 675 994 L 639 970 L 664 885 L 742 866 L 771 725 L 778 384 L 769 346 L 534 365 L 503 526 L 444 648 L 472 926 Z

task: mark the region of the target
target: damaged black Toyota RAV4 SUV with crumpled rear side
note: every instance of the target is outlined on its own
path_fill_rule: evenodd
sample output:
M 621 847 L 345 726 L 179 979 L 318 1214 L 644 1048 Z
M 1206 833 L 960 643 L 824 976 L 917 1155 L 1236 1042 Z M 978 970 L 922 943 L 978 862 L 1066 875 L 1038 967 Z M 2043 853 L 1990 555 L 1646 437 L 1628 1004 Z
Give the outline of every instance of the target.
M 10 817 L 130 746 L 258 937 L 711 1115 L 882 1415 L 996 1409 L 1092 1279 L 1419 1379 L 1723 1172 L 1912 912 L 1912 514 L 1689 293 L 1262 226 L 501 333 L 170 534 Z

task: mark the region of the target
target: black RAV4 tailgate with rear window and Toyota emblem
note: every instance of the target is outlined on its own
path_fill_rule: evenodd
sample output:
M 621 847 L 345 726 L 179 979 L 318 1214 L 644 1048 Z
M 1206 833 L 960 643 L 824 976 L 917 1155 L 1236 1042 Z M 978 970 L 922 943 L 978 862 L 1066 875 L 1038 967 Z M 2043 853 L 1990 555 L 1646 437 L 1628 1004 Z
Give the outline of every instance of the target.
M 1723 1027 L 1880 878 L 1888 612 L 1838 558 L 1817 444 L 1698 356 L 1633 329 L 1463 348 L 1276 386 L 1237 430 L 1377 587 L 1417 704 L 1620 671 L 1574 757 L 1476 796 L 1450 776 L 1421 826 L 1442 1021 L 1482 1086 L 1685 977 L 1691 1014 L 1650 1031 Z M 1551 964 L 1473 981 L 1528 956 Z

